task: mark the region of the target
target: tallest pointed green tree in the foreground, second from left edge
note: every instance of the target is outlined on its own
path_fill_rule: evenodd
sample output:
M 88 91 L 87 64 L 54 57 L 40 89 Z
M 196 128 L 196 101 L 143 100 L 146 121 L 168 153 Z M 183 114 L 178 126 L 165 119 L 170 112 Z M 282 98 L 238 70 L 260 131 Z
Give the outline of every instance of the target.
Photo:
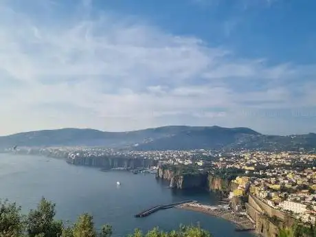
M 42 198 L 36 210 L 31 210 L 27 216 L 27 233 L 30 237 L 59 237 L 63 232 L 63 223 L 55 221 L 55 204 Z

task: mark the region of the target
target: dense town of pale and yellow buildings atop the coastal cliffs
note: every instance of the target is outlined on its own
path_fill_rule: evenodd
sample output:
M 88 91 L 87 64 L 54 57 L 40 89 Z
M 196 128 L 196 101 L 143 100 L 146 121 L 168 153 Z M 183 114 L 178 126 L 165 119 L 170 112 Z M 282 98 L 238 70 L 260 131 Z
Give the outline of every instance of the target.
M 229 198 L 250 194 L 303 223 L 316 222 L 316 154 L 300 152 L 271 153 L 239 150 L 115 150 L 110 148 L 17 148 L 5 152 L 45 155 L 75 160 L 115 157 L 156 161 L 158 166 L 194 167 L 201 173 L 216 174 L 221 170 L 238 170 L 232 179 L 236 189 Z M 119 168 L 119 167 L 114 167 Z

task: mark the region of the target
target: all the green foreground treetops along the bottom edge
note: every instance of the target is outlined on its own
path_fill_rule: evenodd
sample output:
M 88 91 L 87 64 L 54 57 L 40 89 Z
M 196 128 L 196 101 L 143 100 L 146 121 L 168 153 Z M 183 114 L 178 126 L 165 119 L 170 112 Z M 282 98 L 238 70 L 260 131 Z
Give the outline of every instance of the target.
M 16 203 L 0 200 L 0 237 L 110 237 L 111 225 L 104 225 L 100 231 L 94 227 L 93 217 L 82 214 L 74 225 L 65 225 L 54 219 L 55 204 L 41 199 L 36 210 L 27 215 L 21 214 L 21 207 Z M 135 229 L 128 237 L 211 237 L 212 235 L 197 226 L 180 226 L 172 232 L 163 232 L 158 227 L 144 234 Z

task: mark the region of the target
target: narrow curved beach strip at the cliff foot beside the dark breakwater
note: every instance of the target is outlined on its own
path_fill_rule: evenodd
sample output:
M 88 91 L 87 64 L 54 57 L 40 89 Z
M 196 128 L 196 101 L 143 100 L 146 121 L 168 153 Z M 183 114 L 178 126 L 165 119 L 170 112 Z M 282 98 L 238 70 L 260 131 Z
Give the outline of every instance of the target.
M 247 214 L 240 214 L 233 212 L 229 209 L 228 205 L 203 205 L 201 203 L 183 203 L 181 205 L 175 205 L 174 207 L 182 208 L 185 210 L 191 210 L 195 212 L 202 212 L 211 216 L 218 216 L 227 221 L 236 224 L 237 232 L 252 231 L 255 229 L 255 223 Z

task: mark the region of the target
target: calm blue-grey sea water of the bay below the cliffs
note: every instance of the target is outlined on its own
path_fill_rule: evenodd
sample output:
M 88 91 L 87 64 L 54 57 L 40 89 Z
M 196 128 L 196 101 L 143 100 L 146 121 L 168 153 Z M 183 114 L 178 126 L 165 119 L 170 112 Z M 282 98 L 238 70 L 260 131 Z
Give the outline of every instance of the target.
M 117 181 L 121 183 L 119 187 Z M 234 225 L 221 218 L 176 208 L 135 218 L 134 214 L 153 205 L 190 199 L 210 204 L 217 201 L 214 194 L 207 192 L 170 190 L 153 174 L 101 172 L 60 159 L 0 154 L 0 199 L 16 201 L 27 212 L 36 207 L 41 196 L 56 203 L 57 218 L 74 221 L 79 214 L 88 212 L 97 227 L 111 224 L 114 236 L 125 236 L 135 228 L 147 231 L 158 225 L 170 230 L 181 223 L 198 222 L 214 237 L 253 236 L 234 232 Z

